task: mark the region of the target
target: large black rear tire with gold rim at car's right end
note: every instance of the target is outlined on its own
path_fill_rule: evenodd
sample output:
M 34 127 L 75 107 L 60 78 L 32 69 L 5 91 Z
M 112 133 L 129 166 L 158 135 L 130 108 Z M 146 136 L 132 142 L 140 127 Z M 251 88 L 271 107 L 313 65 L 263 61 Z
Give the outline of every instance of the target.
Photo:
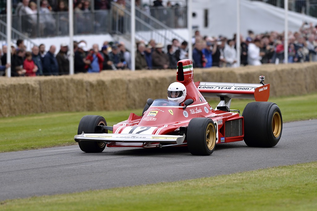
M 281 139 L 283 121 L 273 102 L 250 102 L 243 110 L 244 142 L 250 147 L 274 147 Z

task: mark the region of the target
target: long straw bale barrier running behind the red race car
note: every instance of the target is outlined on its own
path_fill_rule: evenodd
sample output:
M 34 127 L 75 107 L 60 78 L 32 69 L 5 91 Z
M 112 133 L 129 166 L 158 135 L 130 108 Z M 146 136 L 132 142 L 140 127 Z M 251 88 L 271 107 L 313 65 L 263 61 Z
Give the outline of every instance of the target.
M 240 68 L 194 69 L 194 80 L 258 83 L 265 76 L 270 96 L 317 91 L 317 63 L 267 64 Z M 60 111 L 143 108 L 148 98 L 167 98 L 174 70 L 102 71 L 74 76 L 0 77 L 0 117 Z

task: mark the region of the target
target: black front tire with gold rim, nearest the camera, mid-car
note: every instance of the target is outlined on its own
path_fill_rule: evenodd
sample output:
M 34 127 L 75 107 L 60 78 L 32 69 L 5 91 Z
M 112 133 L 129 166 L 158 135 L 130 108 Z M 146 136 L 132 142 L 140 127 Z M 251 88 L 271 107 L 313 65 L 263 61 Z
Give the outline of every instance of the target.
M 211 155 L 215 149 L 217 131 L 209 118 L 192 119 L 187 128 L 187 146 L 192 155 Z

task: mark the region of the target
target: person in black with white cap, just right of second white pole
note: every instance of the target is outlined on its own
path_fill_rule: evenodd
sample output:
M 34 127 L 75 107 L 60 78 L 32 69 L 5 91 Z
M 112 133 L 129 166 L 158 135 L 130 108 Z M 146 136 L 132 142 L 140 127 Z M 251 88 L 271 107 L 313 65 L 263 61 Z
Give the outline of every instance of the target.
M 75 51 L 74 56 L 74 72 L 75 73 L 85 73 L 87 72 L 86 66 L 91 64 L 90 60 L 86 59 L 86 51 L 87 46 L 85 43 L 80 42 L 78 43 L 78 49 Z

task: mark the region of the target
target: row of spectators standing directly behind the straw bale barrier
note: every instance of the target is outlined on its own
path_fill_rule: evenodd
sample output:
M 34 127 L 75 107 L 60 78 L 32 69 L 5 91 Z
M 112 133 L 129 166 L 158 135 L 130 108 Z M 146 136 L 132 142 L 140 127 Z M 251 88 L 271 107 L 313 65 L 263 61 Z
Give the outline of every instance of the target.
M 288 32 L 288 63 L 317 61 L 317 25 L 303 23 L 298 32 Z M 248 31 L 246 39 L 240 38 L 240 62 L 245 65 L 283 63 L 284 32 L 275 31 L 254 34 Z M 193 66 L 198 68 L 237 67 L 236 35 L 231 39 L 224 36 L 201 36 L 199 31 L 192 38 Z M 11 63 L 7 64 L 7 50 L 11 48 Z M 165 53 L 165 49 L 167 50 Z M 69 49 L 62 43 L 56 54 L 56 46 L 51 45 L 45 52 L 45 44 L 26 51 L 23 40 L 10 46 L 2 46 L 0 74 L 11 67 L 11 76 L 46 76 L 69 74 Z M 175 69 L 177 62 L 188 58 L 188 43 L 173 39 L 164 46 L 150 40 L 137 42 L 135 69 Z M 131 54 L 124 43 L 105 41 L 100 47 L 93 44 L 88 48 L 84 40 L 74 42 L 75 73 L 98 73 L 102 70 L 131 69 Z

